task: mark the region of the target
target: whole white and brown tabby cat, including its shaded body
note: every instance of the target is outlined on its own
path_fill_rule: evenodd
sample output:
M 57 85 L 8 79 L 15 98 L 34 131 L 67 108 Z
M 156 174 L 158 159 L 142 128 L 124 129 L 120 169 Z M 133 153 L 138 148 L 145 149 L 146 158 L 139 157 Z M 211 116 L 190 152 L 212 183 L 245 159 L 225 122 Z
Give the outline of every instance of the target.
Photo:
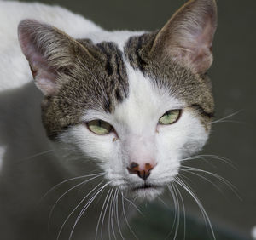
M 183 186 L 211 130 L 216 27 L 215 0 L 153 32 L 0 1 L 1 239 L 123 238 L 122 201 Z

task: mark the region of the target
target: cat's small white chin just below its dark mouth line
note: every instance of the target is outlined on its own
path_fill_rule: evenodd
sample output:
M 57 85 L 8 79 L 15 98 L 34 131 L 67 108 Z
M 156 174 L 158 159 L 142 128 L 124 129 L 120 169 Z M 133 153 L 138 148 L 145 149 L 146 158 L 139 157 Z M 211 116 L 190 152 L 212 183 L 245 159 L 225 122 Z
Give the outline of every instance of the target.
M 131 188 L 131 196 L 137 197 L 138 199 L 147 199 L 149 201 L 154 200 L 164 191 L 162 186 L 144 185 Z

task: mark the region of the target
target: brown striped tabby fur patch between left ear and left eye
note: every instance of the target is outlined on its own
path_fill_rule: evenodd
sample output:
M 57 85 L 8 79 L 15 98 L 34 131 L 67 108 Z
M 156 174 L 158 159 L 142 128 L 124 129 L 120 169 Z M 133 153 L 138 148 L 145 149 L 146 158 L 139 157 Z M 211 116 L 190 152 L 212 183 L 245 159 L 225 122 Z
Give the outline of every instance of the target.
M 128 79 L 122 54 L 114 43 L 93 45 L 79 40 L 86 48 L 76 49 L 70 66 L 59 68 L 60 89 L 42 104 L 44 127 L 50 138 L 68 126 L 79 123 L 88 109 L 113 111 L 114 105 L 128 95 Z

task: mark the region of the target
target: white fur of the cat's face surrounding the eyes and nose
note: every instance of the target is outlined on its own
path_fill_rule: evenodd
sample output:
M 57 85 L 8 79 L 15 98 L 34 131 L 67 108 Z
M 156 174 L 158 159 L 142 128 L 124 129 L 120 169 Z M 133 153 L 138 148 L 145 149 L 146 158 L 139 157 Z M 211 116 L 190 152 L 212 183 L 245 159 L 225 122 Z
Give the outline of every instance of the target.
M 210 118 L 203 120 L 198 109 L 167 89 L 154 86 L 152 79 L 144 77 L 141 71 L 130 67 L 127 75 L 129 95 L 115 106 L 112 113 L 84 111 L 80 124 L 59 134 L 58 140 L 67 144 L 65 147 L 70 152 L 79 148 L 85 158 L 94 158 L 106 178 L 113 180 L 112 186 L 120 186 L 139 196 L 154 197 L 177 175 L 183 157 L 199 151 L 205 144 Z M 180 110 L 177 122 L 159 123 L 170 110 Z M 114 130 L 108 134 L 95 134 L 86 124 L 94 119 L 109 123 Z M 140 166 L 149 163 L 154 168 L 144 180 L 137 171 L 134 174 L 129 171 L 131 163 Z M 151 187 L 145 188 L 145 182 Z

